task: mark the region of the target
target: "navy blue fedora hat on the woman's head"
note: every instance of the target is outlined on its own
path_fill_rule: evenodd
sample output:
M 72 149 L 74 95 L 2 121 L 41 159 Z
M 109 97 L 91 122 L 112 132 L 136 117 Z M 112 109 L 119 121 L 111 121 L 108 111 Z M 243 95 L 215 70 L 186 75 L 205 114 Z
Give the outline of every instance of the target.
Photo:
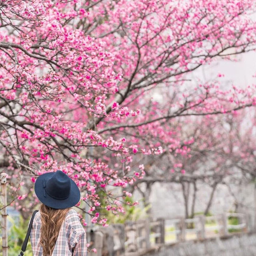
M 80 191 L 76 183 L 64 172 L 47 172 L 35 182 L 38 199 L 54 209 L 65 209 L 76 205 L 80 200 Z

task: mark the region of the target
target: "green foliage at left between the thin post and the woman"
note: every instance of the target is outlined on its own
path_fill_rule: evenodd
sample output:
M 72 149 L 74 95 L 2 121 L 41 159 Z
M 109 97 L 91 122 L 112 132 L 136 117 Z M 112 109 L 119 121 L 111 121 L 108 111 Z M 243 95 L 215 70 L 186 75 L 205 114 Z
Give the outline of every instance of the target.
M 21 246 L 26 237 L 29 220 L 24 221 L 22 216 L 20 216 L 20 221 L 19 221 L 19 224 L 17 225 L 14 222 L 14 220 L 10 216 L 8 216 L 8 221 L 12 223 L 12 227 L 8 232 L 8 246 L 9 246 L 8 256 L 17 256 L 20 253 Z M 28 240 L 28 245 L 24 255 L 33 256 L 30 240 Z M 2 256 L 2 254 L 0 254 L 0 256 Z

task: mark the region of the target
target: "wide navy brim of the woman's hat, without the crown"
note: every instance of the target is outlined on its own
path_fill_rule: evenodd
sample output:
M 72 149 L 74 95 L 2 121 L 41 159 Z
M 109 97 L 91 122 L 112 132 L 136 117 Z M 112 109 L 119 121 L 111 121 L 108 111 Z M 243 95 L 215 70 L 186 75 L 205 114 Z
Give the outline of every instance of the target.
M 40 175 L 35 182 L 35 193 L 38 199 L 45 204 L 48 207 L 54 208 L 54 209 L 65 209 L 70 208 L 74 205 L 76 205 L 80 200 L 80 191 L 76 183 L 70 178 L 71 187 L 70 187 L 70 195 L 68 198 L 64 200 L 56 200 L 52 197 L 50 197 L 47 193 L 46 196 L 44 196 L 44 186 L 43 186 L 43 180 L 47 180 L 54 174 L 55 172 L 47 172 L 45 174 Z

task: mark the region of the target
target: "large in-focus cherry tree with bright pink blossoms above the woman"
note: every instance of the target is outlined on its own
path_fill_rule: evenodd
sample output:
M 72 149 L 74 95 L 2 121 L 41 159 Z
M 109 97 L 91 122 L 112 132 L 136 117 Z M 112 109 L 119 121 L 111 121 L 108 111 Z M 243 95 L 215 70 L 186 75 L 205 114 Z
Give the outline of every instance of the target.
M 108 188 L 130 195 L 144 176 L 140 157 L 176 150 L 178 164 L 189 153 L 194 138 L 176 132 L 179 118 L 254 106 L 255 87 L 222 88 L 221 72 L 186 81 L 212 60 L 254 50 L 254 10 L 252 0 L 1 0 L 0 166 L 16 206 L 37 204 L 36 177 L 62 170 L 80 187 L 77 207 L 104 225 L 99 194 L 122 212 Z

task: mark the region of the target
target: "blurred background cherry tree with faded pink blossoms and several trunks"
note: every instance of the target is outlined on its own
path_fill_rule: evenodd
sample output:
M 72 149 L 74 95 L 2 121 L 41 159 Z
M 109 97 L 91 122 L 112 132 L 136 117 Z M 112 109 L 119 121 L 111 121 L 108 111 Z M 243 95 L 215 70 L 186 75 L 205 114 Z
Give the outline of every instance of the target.
M 130 192 L 137 190 L 147 206 L 155 182 L 170 184 L 170 189 L 171 184 L 179 184 L 185 218 L 193 218 L 195 204 L 202 196 L 202 187 L 211 188 L 204 214 L 209 213 L 219 185 L 227 186 L 236 204 L 242 205 L 230 184 L 246 186 L 255 180 L 255 114 L 253 108 L 207 118 L 177 118 L 172 126 L 176 127 L 181 144 L 168 150 L 170 144 L 155 136 L 154 139 L 163 147 L 163 153 L 138 159 L 146 163 L 145 175 L 130 186 Z M 189 144 L 187 138 L 192 138 Z M 199 188 L 201 191 L 198 192 Z

